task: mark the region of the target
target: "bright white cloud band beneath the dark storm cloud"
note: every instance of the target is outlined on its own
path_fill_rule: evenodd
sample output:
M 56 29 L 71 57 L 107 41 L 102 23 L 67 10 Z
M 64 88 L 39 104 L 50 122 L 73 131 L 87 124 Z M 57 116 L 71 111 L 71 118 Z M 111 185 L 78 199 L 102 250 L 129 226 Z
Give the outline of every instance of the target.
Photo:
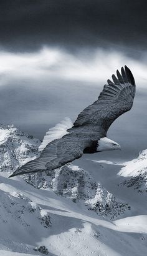
M 116 69 L 125 65 L 132 70 L 139 89 L 147 81 L 145 61 L 131 59 L 111 49 L 107 51 L 100 48 L 95 51 L 87 49 L 75 54 L 52 47 L 44 47 L 40 51 L 23 54 L 0 51 L 0 60 L 1 85 L 16 79 L 17 81 L 62 79 L 62 81 L 85 82 L 85 86 L 87 82 L 98 86 L 100 83 L 107 82 Z M 100 85 L 103 86 L 103 84 Z

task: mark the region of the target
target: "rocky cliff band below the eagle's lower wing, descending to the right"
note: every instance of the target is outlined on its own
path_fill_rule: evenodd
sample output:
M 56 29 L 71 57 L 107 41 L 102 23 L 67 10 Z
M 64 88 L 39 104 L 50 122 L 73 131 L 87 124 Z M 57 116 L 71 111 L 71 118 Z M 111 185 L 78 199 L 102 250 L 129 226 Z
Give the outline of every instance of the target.
M 38 189 L 51 187 L 57 195 L 70 198 L 73 202 L 80 200 L 89 210 L 103 217 L 115 219 L 125 210 L 130 210 L 130 205 L 116 199 L 103 185 L 93 180 L 86 170 L 73 164 L 64 165 L 52 173 L 22 176 L 27 183 Z

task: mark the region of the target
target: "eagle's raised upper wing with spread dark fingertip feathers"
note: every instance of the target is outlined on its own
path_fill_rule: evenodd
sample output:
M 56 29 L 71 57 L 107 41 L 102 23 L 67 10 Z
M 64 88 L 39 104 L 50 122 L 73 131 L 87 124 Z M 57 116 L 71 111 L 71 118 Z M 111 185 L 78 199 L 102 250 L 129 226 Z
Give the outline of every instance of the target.
M 103 87 L 98 100 L 86 107 L 77 117 L 74 127 L 99 126 L 107 133 L 113 121 L 121 114 L 129 111 L 135 96 L 135 79 L 130 69 L 121 67 L 121 74 L 117 70 L 117 77 L 112 75 L 113 82 Z

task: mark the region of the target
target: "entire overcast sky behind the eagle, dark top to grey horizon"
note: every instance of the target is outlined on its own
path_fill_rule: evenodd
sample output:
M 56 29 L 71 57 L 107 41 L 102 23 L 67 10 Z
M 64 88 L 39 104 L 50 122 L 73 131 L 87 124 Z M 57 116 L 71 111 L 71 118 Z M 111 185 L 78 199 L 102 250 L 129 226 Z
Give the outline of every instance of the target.
M 95 101 L 111 74 L 130 67 L 133 109 L 108 137 L 133 158 L 147 147 L 146 1 L 0 2 L 1 123 L 42 139 L 65 116 L 73 121 Z M 112 152 L 100 157 L 112 157 Z

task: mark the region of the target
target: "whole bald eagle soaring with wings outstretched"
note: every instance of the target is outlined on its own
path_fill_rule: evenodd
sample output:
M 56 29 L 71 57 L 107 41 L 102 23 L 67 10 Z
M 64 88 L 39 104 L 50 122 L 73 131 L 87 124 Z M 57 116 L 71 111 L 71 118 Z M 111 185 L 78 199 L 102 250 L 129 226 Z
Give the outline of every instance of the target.
M 73 123 L 65 119 L 50 129 L 39 147 L 40 157 L 27 162 L 10 177 L 31 172 L 50 171 L 62 167 L 83 154 L 120 149 L 120 145 L 107 138 L 113 121 L 133 106 L 135 79 L 130 69 L 121 67 L 111 82 L 103 87 L 97 101 L 86 107 Z

